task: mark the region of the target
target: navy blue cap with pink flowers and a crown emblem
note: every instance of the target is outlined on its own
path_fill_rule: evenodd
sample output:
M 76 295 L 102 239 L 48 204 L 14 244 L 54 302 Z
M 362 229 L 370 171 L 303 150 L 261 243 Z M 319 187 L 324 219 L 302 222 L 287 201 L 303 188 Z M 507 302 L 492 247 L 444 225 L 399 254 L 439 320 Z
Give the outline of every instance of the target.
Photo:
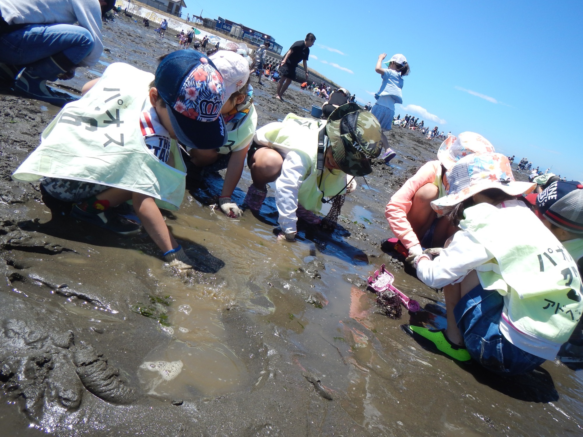
M 158 65 L 154 84 L 181 145 L 192 149 L 224 145 L 223 77 L 210 59 L 195 50 L 172 52 Z

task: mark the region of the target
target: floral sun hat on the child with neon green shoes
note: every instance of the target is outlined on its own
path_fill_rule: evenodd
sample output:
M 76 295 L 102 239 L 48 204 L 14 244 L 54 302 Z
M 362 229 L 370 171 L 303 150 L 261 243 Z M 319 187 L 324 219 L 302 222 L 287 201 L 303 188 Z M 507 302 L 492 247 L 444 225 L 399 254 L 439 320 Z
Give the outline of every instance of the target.
M 461 158 L 447 173 L 447 196 L 431 202 L 431 207 L 444 214 L 451 207 L 476 193 L 497 188 L 510 196 L 528 194 L 536 188 L 532 182 L 517 182 L 508 158 L 501 153 L 472 153 Z

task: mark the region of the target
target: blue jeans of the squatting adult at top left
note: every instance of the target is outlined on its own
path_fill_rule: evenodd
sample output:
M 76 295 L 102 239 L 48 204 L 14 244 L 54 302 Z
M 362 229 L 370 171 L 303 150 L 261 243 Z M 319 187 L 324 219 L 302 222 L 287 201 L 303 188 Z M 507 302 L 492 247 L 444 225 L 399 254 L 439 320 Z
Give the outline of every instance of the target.
M 0 35 L 0 62 L 26 66 L 42 79 L 56 80 L 93 50 L 89 30 L 72 24 L 29 24 Z

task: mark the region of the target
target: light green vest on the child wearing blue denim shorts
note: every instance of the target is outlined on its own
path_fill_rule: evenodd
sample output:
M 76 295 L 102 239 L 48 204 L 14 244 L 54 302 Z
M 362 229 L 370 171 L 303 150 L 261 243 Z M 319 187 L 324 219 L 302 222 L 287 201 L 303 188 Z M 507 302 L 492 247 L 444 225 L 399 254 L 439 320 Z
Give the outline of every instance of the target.
M 559 240 L 526 207 L 469 207 L 459 227 L 494 259 L 479 266 L 485 290 L 504 295 L 506 315 L 522 332 L 564 343 L 583 311 L 577 265 Z

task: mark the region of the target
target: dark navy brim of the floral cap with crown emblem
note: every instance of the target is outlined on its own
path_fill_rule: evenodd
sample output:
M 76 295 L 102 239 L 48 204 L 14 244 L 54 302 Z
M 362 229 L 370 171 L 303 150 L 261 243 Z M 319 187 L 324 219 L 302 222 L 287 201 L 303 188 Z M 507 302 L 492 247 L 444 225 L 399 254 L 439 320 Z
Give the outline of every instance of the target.
M 191 149 L 218 149 L 227 138 L 223 116 L 215 121 L 198 121 L 185 117 L 166 104 L 168 117 L 178 142 Z

